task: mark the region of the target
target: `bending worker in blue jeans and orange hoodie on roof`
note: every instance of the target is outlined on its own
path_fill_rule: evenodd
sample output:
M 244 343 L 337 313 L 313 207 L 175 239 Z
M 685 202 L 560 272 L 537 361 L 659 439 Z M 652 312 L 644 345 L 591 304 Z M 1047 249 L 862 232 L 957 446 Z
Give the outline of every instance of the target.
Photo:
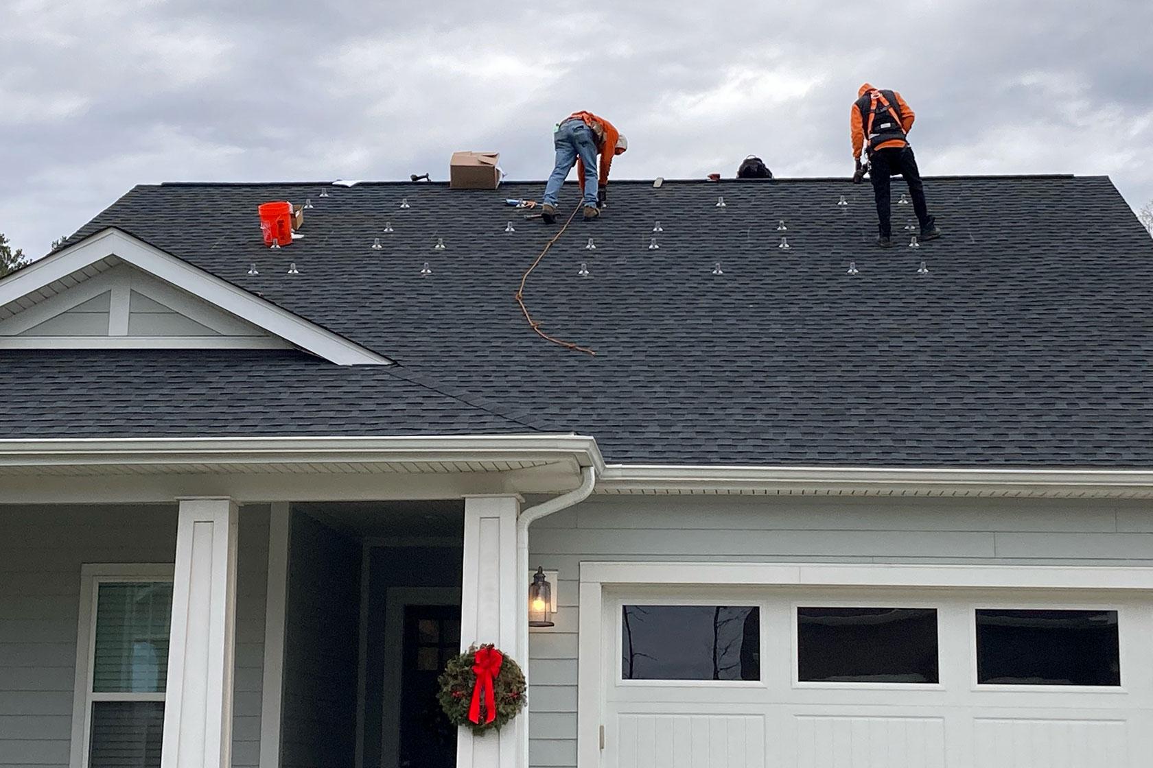
M 627 150 L 628 142 L 604 117 L 597 117 L 591 112 L 574 112 L 553 129 L 552 143 L 557 147 L 557 165 L 544 187 L 541 219 L 548 225 L 557 220 L 557 196 L 574 162 L 585 195 L 585 221 L 596 219 L 606 198 L 612 158 Z M 600 172 L 596 162 L 598 154 Z

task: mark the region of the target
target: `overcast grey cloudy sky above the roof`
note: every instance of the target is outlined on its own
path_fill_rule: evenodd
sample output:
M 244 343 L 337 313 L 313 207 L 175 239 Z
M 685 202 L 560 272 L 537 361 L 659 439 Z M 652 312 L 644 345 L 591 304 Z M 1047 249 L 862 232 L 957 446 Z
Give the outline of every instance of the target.
M 469 149 L 541 180 L 574 109 L 628 137 L 617 178 L 849 175 L 862 81 L 926 175 L 1153 198 L 1151 0 L 0 0 L 0 231 L 32 256 L 138 183 L 444 180 Z

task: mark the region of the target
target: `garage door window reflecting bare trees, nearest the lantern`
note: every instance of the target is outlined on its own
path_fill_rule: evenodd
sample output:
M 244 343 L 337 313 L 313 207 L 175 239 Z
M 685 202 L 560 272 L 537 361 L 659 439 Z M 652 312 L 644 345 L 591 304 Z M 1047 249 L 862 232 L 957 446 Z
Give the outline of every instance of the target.
M 625 606 L 626 680 L 761 679 L 761 611 L 751 606 Z

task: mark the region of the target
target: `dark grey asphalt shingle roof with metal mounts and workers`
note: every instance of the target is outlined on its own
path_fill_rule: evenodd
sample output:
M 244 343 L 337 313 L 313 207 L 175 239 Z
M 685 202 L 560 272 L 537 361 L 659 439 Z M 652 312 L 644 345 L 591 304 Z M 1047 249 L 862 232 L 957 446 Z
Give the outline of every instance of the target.
M 578 216 L 525 291 L 590 357 L 541 340 L 513 299 L 556 228 L 504 199 L 541 184 L 137 187 L 77 235 L 119 227 L 399 365 L 0 352 L 0 435 L 538 429 L 627 463 L 1153 465 L 1153 241 L 1113 184 L 926 188 L 945 236 L 881 251 L 867 184 L 613 182 L 603 219 Z M 304 238 L 265 249 L 256 206 L 306 198 Z M 562 207 L 576 201 L 570 184 Z M 911 207 L 894 205 L 898 233 Z

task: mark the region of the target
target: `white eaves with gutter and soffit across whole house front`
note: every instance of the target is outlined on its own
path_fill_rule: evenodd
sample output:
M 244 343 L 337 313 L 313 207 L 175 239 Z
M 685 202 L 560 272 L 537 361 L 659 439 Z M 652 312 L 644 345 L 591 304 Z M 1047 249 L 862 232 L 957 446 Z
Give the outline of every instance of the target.
M 0 440 L 0 503 L 598 494 L 1153 499 L 1151 470 L 606 465 L 574 434 Z

